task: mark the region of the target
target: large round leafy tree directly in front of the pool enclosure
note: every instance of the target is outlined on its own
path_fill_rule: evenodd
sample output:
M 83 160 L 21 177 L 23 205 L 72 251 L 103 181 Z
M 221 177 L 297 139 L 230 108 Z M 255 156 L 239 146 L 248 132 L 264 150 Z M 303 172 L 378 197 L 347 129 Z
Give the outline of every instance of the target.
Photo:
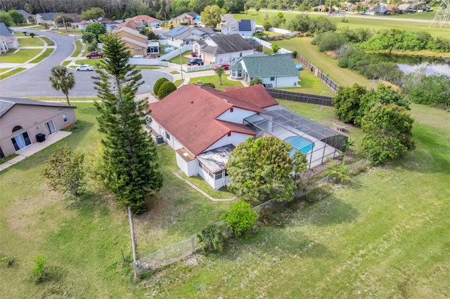
M 307 159 L 300 151 L 291 159 L 291 150 L 292 145 L 274 136 L 240 143 L 226 164 L 229 190 L 254 203 L 292 200 L 297 190 L 293 173 L 306 171 Z

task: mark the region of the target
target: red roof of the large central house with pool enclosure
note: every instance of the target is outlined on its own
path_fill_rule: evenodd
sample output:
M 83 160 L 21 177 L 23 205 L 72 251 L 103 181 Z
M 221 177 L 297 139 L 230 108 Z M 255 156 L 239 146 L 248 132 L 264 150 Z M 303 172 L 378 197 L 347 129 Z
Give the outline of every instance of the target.
M 230 132 L 255 135 L 243 124 L 217 120 L 231 107 L 263 112 L 262 108 L 278 104 L 262 86 L 236 91 L 217 91 L 195 84 L 181 86 L 159 102 L 151 103 L 150 116 L 197 156 Z

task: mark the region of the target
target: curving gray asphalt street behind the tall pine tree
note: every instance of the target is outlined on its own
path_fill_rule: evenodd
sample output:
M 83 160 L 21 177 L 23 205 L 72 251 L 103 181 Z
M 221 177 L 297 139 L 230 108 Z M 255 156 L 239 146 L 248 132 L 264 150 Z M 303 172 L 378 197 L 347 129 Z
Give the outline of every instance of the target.
M 24 98 L 24 97 L 48 97 L 48 96 L 61 96 L 64 97 L 60 91 L 55 91 L 51 88 L 49 81 L 50 69 L 55 65 L 59 65 L 65 58 L 72 54 L 74 49 L 73 42 L 75 41 L 73 36 L 65 36 L 52 32 L 34 31 L 30 29 L 15 29 L 17 31 L 35 32 L 36 34 L 48 36 L 55 41 L 57 47 L 53 51 L 53 54 L 39 62 L 38 65 L 20 72 L 15 76 L 8 77 L 0 81 L 0 95 L 4 97 Z M 95 72 L 76 72 L 71 70 L 75 74 L 75 88 L 73 88 L 69 96 L 74 97 L 86 97 L 96 96 L 96 90 L 92 83 L 91 76 L 95 75 Z M 150 93 L 153 90 L 153 84 L 161 77 L 165 77 L 172 81 L 172 76 L 165 72 L 159 72 L 155 70 L 143 70 L 141 72 L 143 81 L 145 83 L 139 87 L 138 93 Z

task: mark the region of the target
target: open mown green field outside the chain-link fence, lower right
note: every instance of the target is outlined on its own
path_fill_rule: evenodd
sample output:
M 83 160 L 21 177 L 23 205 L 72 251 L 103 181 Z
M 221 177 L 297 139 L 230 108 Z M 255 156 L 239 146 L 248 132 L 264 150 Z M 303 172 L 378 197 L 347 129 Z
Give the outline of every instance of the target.
M 161 298 L 448 297 L 450 121 L 429 107 L 412 114 L 415 152 L 322 190 L 315 204 L 291 204 L 278 214 L 283 227 L 262 227 L 144 286 Z

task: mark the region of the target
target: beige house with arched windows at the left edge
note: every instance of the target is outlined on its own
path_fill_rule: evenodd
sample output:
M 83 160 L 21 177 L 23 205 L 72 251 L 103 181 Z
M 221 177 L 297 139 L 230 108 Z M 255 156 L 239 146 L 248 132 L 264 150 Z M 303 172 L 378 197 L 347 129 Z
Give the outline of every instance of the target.
M 74 106 L 0 97 L 0 158 L 75 124 Z

